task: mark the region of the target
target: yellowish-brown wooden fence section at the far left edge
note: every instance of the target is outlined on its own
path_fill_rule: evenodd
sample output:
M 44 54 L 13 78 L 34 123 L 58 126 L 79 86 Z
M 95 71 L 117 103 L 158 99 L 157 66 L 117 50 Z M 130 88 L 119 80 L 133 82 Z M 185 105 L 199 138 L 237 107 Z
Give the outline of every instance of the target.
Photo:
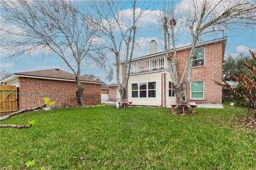
M 16 86 L 0 85 L 0 113 L 17 111 Z

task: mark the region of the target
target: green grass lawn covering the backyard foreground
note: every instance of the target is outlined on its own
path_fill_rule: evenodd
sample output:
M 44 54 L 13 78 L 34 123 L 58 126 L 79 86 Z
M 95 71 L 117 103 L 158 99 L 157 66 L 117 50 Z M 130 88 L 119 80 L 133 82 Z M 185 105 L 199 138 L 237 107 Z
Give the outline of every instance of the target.
M 18 115 L 1 124 L 1 169 L 256 169 L 256 130 L 234 120 L 244 108 L 68 108 Z

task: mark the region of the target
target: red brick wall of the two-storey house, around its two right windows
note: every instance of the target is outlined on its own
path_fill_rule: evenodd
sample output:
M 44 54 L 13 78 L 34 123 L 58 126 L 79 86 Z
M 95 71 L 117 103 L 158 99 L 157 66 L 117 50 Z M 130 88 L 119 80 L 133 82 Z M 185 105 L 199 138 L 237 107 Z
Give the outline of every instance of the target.
M 190 100 L 190 83 L 187 88 L 189 101 L 195 103 L 221 103 L 222 87 L 213 82 L 222 78 L 222 43 L 205 46 L 205 66 L 192 69 L 190 81 L 204 81 L 204 100 Z M 189 49 L 177 53 L 179 78 L 186 66 Z

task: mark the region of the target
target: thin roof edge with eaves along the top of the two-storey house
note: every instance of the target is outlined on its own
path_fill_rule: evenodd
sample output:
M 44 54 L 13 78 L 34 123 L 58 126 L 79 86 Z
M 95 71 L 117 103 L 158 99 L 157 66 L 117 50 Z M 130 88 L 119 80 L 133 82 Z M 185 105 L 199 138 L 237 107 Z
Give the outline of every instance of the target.
M 213 40 L 210 40 L 210 41 L 204 41 L 204 42 L 202 42 L 202 43 L 197 43 L 197 44 L 196 44 L 196 47 L 200 47 L 200 46 L 205 46 L 205 45 L 210 45 L 210 44 L 215 44 L 215 43 L 221 43 L 221 42 L 223 42 L 223 51 L 222 51 L 222 55 L 223 55 L 223 57 L 224 57 L 225 48 L 226 48 L 226 41 L 227 41 L 227 37 L 223 37 L 223 38 L 213 39 Z M 179 48 L 177 48 L 177 51 L 189 49 L 190 47 L 191 47 L 191 45 L 179 47 Z M 173 51 L 173 50 L 171 50 L 171 52 L 172 52 L 172 51 Z M 165 55 L 165 52 L 158 52 L 158 53 L 154 53 L 154 54 L 149 54 L 149 55 L 145 55 L 145 56 L 133 58 L 133 59 L 132 59 L 132 62 L 134 62 L 134 61 L 139 61 L 139 60 L 143 60 L 143 59 L 146 59 L 146 58 L 151 58 L 151 57 L 163 56 L 163 55 Z M 125 63 L 125 61 L 120 62 L 120 64 L 122 64 L 122 63 Z M 115 63 L 114 65 L 116 65 L 116 63 Z

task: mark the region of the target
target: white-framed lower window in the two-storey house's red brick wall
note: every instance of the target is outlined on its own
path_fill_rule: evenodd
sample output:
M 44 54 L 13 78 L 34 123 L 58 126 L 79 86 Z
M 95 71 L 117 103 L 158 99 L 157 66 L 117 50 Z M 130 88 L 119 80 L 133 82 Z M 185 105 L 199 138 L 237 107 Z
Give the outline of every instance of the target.
M 190 83 L 190 99 L 204 99 L 204 81 Z

